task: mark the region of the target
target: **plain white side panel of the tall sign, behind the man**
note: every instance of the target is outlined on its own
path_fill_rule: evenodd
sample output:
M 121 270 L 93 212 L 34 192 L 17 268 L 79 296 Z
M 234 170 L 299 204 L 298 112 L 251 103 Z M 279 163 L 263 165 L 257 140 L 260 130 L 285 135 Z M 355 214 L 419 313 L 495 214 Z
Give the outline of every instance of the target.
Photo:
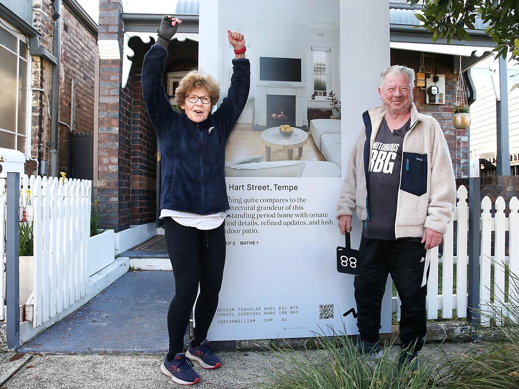
M 390 65 L 387 0 L 340 2 L 340 96 L 343 177 L 348 157 L 363 127 L 362 113 L 380 105 L 380 72 Z M 362 225 L 352 220 L 351 241 L 360 242 Z M 354 244 L 352 243 L 352 246 Z M 391 332 L 391 284 L 388 280 L 380 332 Z

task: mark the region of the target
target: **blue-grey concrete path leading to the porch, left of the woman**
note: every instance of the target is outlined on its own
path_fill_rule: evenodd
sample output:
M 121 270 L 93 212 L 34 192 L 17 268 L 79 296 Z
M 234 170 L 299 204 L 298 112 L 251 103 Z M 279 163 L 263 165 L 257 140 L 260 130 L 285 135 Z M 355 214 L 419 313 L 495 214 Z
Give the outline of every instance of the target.
M 168 346 L 171 271 L 128 272 L 73 314 L 22 345 L 37 353 L 160 353 Z

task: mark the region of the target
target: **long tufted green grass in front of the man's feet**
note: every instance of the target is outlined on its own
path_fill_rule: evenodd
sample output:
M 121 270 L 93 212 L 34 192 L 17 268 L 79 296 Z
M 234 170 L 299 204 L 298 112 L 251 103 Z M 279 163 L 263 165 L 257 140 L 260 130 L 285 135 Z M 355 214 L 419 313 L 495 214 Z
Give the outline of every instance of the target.
M 280 363 L 268 374 L 265 389 L 414 389 L 437 388 L 429 363 L 420 360 L 417 371 L 411 366 L 398 371 L 398 353 L 391 345 L 379 360 L 357 353 L 354 341 L 345 336 L 317 336 L 317 349 L 297 353 L 291 349 L 272 350 Z

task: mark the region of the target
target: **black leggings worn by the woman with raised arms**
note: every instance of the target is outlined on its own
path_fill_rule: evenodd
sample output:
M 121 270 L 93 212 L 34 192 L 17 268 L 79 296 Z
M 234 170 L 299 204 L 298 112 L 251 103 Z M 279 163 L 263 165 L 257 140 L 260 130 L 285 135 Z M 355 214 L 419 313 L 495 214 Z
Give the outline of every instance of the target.
M 198 230 L 164 219 L 166 244 L 175 276 L 175 296 L 168 311 L 169 353 L 174 356 L 184 347 L 189 314 L 195 307 L 195 339 L 207 338 L 213 320 L 225 265 L 225 222 L 212 230 Z

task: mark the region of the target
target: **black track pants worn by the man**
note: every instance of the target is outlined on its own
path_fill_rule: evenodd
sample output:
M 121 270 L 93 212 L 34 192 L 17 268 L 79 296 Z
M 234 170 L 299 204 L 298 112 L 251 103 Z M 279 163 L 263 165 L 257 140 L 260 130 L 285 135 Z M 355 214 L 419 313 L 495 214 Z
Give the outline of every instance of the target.
M 355 277 L 357 326 L 368 342 L 378 340 L 380 309 L 388 273 L 397 287 L 401 305 L 400 339 L 403 346 L 413 345 L 419 351 L 427 330 L 427 285 L 424 278 L 426 250 L 423 243 L 387 241 L 362 237 L 360 247 L 361 275 Z

